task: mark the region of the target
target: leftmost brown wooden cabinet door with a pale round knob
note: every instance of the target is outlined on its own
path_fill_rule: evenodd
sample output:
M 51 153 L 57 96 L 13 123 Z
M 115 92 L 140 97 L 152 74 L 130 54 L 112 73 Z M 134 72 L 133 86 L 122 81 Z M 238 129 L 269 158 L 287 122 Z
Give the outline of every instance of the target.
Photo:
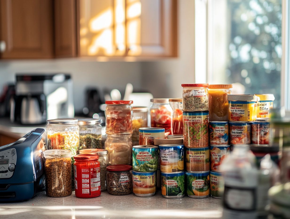
M 1 58 L 53 57 L 53 2 L 1 0 Z

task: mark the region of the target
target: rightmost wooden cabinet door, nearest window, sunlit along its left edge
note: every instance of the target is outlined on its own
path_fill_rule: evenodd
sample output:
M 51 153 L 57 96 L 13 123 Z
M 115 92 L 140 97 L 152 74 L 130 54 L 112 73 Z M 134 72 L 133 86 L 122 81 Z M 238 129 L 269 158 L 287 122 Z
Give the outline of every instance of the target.
M 176 56 L 176 0 L 126 0 L 128 56 Z

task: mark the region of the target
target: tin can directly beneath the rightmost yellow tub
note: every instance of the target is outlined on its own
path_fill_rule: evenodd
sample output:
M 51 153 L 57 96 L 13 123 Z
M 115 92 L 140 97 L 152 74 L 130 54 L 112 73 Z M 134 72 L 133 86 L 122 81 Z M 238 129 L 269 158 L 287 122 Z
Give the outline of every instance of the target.
M 256 145 L 269 144 L 269 119 L 257 119 L 251 125 L 252 143 Z

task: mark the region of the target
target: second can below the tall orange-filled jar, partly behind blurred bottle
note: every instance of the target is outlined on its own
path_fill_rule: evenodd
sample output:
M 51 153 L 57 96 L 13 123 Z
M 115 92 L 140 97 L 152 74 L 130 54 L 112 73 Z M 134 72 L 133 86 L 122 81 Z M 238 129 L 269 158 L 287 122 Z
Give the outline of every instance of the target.
M 230 151 L 230 145 L 210 145 L 212 171 L 220 171 L 220 164 L 230 154 Z

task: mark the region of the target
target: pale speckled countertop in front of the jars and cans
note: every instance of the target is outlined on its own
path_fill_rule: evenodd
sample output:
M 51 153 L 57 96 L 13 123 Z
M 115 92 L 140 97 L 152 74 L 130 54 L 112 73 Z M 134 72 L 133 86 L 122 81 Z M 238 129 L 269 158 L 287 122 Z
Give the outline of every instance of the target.
M 161 193 L 153 197 L 110 195 L 90 199 L 75 197 L 51 198 L 40 193 L 26 202 L 0 204 L 0 218 L 23 219 L 131 219 L 131 218 L 221 218 L 221 200 L 215 198 L 166 199 Z

